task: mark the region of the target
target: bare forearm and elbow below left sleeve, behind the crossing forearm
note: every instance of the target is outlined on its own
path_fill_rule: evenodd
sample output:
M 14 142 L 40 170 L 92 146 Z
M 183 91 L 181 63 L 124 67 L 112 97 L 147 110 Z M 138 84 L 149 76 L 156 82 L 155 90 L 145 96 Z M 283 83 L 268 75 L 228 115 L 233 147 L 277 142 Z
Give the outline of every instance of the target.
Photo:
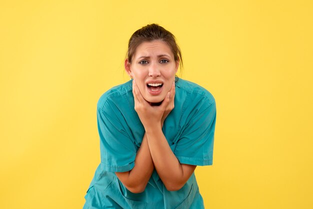
M 154 165 L 150 155 L 146 133 L 137 151 L 134 167 L 126 172 L 115 172 L 123 185 L 133 193 L 142 192 L 152 174 Z

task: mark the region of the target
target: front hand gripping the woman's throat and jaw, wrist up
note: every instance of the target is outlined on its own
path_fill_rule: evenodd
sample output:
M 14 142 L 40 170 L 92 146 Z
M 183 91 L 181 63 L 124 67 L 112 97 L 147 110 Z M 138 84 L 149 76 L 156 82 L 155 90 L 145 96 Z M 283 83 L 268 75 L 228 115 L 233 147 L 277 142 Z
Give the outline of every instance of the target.
M 166 107 L 170 101 L 170 92 L 167 92 L 164 100 L 158 106 L 152 106 L 149 102 L 147 102 L 134 79 L 132 80 L 132 94 L 134 97 L 134 108 L 137 112 L 140 121 L 142 122 L 144 129 L 151 127 L 157 127 L 156 125 L 162 125 L 162 117 Z M 168 114 L 168 113 L 167 113 Z M 167 115 L 166 115 L 167 116 Z

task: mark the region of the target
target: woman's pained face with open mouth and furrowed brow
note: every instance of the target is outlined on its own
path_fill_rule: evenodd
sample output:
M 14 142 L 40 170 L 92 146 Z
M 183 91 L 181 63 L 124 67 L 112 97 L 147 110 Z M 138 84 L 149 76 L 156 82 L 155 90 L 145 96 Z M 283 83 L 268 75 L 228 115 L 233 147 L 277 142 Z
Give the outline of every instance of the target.
M 148 102 L 162 101 L 175 80 L 178 61 L 166 42 L 153 40 L 137 46 L 126 72 L 133 76 L 141 95 Z

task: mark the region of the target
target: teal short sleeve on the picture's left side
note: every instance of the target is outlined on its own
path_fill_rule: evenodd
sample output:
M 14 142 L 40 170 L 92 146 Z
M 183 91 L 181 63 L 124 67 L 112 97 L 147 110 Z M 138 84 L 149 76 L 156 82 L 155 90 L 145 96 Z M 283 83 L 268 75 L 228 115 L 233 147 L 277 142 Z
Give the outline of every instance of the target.
M 125 131 L 123 116 L 114 103 L 106 101 L 97 107 L 101 164 L 110 172 L 125 172 L 134 166 L 136 148 Z

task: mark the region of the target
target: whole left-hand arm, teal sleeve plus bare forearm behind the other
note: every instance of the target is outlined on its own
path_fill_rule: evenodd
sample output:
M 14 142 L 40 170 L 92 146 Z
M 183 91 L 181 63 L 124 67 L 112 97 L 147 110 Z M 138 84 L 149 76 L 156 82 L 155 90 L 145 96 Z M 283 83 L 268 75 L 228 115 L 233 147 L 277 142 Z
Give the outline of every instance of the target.
M 154 166 L 146 134 L 137 149 L 123 131 L 123 124 L 118 119 L 121 115 L 116 108 L 113 102 L 105 102 L 97 108 L 101 164 L 104 170 L 115 172 L 126 188 L 137 193 L 144 190 Z

